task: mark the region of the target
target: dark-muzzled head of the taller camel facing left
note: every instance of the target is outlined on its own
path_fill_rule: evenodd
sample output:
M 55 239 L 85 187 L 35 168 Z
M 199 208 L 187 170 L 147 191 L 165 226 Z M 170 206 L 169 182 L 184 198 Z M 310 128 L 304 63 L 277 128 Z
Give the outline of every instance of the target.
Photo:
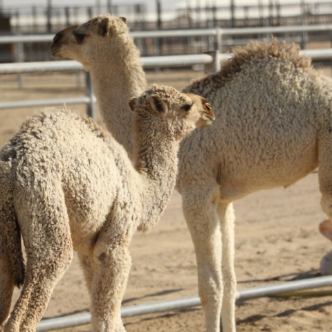
M 81 62 L 86 71 L 95 61 L 102 66 L 102 59 L 120 57 L 122 37 L 129 37 L 129 28 L 123 17 L 109 14 L 90 19 L 80 26 L 71 26 L 55 35 L 50 46 L 53 57 L 67 57 Z M 123 54 L 122 54 L 123 56 Z

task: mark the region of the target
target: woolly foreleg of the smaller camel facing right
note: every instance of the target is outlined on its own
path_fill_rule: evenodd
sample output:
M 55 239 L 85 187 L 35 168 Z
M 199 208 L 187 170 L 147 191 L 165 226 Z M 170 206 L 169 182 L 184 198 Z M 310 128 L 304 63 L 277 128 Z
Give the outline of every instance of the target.
M 128 248 L 133 230 L 119 230 L 115 221 L 108 226 L 93 249 L 92 331 L 122 332 L 120 308 L 131 268 Z

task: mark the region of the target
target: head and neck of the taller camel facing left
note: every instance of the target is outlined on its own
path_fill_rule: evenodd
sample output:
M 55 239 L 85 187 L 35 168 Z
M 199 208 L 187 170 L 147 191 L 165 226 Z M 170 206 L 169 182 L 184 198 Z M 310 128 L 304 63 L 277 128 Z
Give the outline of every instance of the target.
M 71 48 L 63 47 L 67 44 Z M 86 44 L 89 48 L 84 47 Z M 145 91 L 147 82 L 139 61 L 140 52 L 129 36 L 126 19 L 105 15 L 81 26 L 66 28 L 55 35 L 50 51 L 54 57 L 81 62 L 89 71 L 104 124 L 133 157 L 133 116 L 128 100 Z M 119 116 L 111 116 L 110 108 Z

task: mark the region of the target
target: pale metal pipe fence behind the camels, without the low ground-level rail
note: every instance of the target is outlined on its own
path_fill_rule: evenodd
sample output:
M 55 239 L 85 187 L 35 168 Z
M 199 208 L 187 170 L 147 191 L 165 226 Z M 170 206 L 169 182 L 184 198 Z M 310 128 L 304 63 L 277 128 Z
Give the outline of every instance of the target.
M 154 38 L 156 53 L 158 53 L 158 42 L 163 37 L 202 37 L 208 36 L 211 38 L 211 43 L 208 49 L 211 51 L 208 54 L 197 55 L 169 55 L 156 57 L 141 57 L 140 60 L 144 68 L 165 68 L 165 67 L 183 67 L 194 66 L 201 64 L 204 66 L 205 72 L 219 71 L 221 59 L 229 58 L 231 55 L 221 53 L 223 50 L 224 36 L 243 36 L 243 35 L 260 35 L 271 38 L 271 34 L 287 35 L 291 33 L 308 32 L 326 32 L 332 31 L 332 24 L 313 25 L 313 26 L 277 26 L 265 28 L 234 28 L 234 29 L 201 29 L 201 30 L 158 30 L 158 31 L 140 31 L 133 32 L 131 36 L 135 39 L 136 44 L 144 38 Z M 35 42 L 51 42 L 54 35 L 25 35 L 25 36 L 3 36 L 0 37 L 0 44 L 15 44 L 17 49 L 17 63 L 0 64 L 0 75 L 19 74 L 19 85 L 22 86 L 22 75 L 24 73 L 53 73 L 63 71 L 83 71 L 82 65 L 73 61 L 57 61 L 57 62 L 23 62 L 23 44 Z M 332 48 L 320 50 L 302 50 L 313 59 L 313 61 L 330 62 L 332 59 Z M 87 104 L 89 116 L 95 118 L 95 98 L 93 97 L 93 89 L 89 74 L 86 74 L 86 95 L 79 98 L 62 98 L 58 100 L 30 100 L 17 102 L 1 102 L 0 109 L 17 108 L 17 107 L 40 107 L 51 106 L 59 104 Z

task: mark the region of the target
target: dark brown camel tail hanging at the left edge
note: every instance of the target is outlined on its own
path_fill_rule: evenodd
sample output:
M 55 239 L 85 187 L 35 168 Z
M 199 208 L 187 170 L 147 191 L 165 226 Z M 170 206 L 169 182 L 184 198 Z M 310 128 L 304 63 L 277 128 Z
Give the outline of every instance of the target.
M 17 287 L 24 283 L 25 266 L 21 248 L 21 230 L 13 204 L 10 163 L 0 161 L 0 265 Z M 1 272 L 2 273 L 2 272 Z

